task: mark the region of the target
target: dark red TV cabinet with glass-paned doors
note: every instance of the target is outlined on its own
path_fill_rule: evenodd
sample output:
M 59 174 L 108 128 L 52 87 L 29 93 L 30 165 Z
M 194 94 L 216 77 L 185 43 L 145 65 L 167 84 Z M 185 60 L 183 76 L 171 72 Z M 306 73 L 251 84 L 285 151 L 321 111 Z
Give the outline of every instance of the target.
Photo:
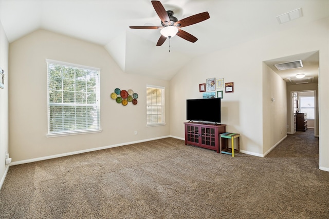
M 184 123 L 185 145 L 194 145 L 220 152 L 220 134 L 226 132 L 226 125 L 205 123 Z

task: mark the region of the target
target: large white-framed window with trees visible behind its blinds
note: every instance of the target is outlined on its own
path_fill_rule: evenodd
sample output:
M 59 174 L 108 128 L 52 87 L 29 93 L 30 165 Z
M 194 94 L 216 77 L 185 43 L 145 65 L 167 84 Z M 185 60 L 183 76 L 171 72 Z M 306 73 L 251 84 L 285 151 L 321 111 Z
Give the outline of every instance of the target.
M 100 130 L 99 69 L 47 59 L 48 134 Z

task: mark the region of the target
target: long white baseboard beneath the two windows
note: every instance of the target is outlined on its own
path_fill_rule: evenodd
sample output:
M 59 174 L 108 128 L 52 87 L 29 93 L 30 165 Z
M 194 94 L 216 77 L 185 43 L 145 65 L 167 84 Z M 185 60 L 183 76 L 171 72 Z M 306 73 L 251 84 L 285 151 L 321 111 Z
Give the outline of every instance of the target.
M 75 155 L 75 154 L 86 153 L 86 152 L 92 152 L 92 151 L 98 151 L 98 150 L 103 150 L 103 149 L 108 149 L 108 148 L 115 148 L 115 147 L 120 147 L 120 146 L 124 146 L 124 145 L 131 145 L 131 144 L 136 144 L 136 143 L 141 143 L 141 142 L 149 142 L 149 141 L 158 140 L 158 139 L 166 138 L 166 137 L 174 137 L 174 136 L 169 136 L 169 135 L 168 136 L 161 136 L 161 137 L 149 138 L 149 139 L 135 141 L 135 142 L 126 142 L 126 143 L 121 143 L 121 144 L 116 144 L 116 145 L 109 145 L 109 146 L 104 146 L 104 147 L 99 147 L 99 148 L 90 148 L 90 149 L 86 149 L 86 150 L 80 150 L 80 151 L 73 151 L 73 152 L 55 154 L 55 155 L 50 155 L 50 156 L 37 157 L 37 158 L 32 158 L 32 159 L 23 160 L 23 161 L 15 161 L 15 162 L 11 162 L 10 166 L 11 165 L 19 165 L 19 164 L 27 164 L 27 163 L 32 163 L 32 162 L 36 162 L 36 161 L 44 161 L 44 160 L 49 160 L 49 159 L 53 159 L 53 158 L 69 156 L 69 155 Z

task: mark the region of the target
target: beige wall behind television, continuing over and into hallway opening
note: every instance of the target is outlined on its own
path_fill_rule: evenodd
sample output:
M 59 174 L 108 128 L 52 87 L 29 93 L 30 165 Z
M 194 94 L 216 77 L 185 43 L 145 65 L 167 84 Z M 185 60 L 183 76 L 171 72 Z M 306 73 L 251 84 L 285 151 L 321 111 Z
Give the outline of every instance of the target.
M 329 18 L 309 23 L 301 28 L 293 28 L 254 39 L 241 45 L 198 57 L 181 69 L 171 81 L 171 134 L 184 137 L 183 122 L 186 121 L 187 98 L 201 98 L 198 85 L 206 78 L 224 77 L 225 82 L 234 82 L 234 93 L 224 93 L 222 123 L 227 131 L 241 133 L 241 149 L 245 153 L 260 155 L 281 141 L 286 133 L 286 92 L 282 82 L 265 75 L 262 62 L 279 57 L 319 51 L 320 54 L 320 169 L 329 171 Z M 288 46 L 287 46 L 288 45 Z M 276 86 L 276 87 L 273 87 Z M 276 89 L 283 89 L 276 93 Z M 272 93 L 275 92 L 275 93 Z M 179 96 L 178 96 L 179 94 Z M 272 120 L 268 97 L 280 95 L 280 110 L 284 113 L 276 117 L 279 124 Z M 286 95 L 284 93 L 284 95 Z M 275 112 L 278 109 L 275 109 Z M 322 113 L 322 114 L 321 114 Z M 267 115 L 267 116 L 266 116 Z M 284 121 L 284 125 L 282 125 Z M 268 127 L 272 129 L 268 129 Z M 282 130 L 282 134 L 281 134 Z M 265 139 L 273 138 L 270 141 Z

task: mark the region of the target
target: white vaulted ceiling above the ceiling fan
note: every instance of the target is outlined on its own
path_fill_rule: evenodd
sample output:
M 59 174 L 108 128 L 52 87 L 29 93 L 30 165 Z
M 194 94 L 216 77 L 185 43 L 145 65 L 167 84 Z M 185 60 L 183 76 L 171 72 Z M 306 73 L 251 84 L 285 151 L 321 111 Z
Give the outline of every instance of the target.
M 198 38 L 175 36 L 156 47 L 161 26 L 151 1 L 7 1 L 0 0 L 0 19 L 9 42 L 45 29 L 103 46 L 126 73 L 161 79 L 173 75 L 199 55 L 329 16 L 329 1 L 160 1 L 179 19 L 208 11 L 204 22 L 182 28 Z M 277 16 L 302 8 L 302 17 L 279 24 Z M 281 60 L 280 60 L 281 61 Z

